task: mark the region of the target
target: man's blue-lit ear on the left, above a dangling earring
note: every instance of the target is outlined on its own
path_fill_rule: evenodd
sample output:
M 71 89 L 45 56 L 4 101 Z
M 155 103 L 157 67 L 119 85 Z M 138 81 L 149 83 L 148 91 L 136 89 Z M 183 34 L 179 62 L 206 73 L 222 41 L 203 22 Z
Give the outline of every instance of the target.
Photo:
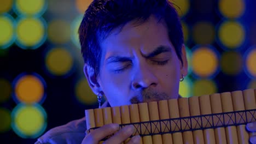
M 98 84 L 97 76 L 95 70 L 90 67 L 88 64 L 84 64 L 84 74 L 88 81 L 89 86 L 91 87 L 92 92 L 96 95 L 101 92 L 101 87 Z

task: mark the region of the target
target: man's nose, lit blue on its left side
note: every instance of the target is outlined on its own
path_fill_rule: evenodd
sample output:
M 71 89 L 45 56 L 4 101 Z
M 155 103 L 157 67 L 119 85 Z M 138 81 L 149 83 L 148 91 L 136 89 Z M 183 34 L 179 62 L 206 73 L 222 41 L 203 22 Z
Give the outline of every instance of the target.
M 132 89 L 141 91 L 147 87 L 155 87 L 157 85 L 158 79 L 153 73 L 153 69 L 150 69 L 149 65 L 143 64 L 136 68 L 132 80 Z

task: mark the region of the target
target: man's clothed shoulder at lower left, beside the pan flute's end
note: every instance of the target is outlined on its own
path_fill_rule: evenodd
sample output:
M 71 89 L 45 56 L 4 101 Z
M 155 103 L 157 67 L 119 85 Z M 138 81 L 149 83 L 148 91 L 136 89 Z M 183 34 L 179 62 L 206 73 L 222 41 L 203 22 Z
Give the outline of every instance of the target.
M 40 136 L 35 144 L 40 143 L 81 143 L 85 137 L 85 117 L 55 127 Z

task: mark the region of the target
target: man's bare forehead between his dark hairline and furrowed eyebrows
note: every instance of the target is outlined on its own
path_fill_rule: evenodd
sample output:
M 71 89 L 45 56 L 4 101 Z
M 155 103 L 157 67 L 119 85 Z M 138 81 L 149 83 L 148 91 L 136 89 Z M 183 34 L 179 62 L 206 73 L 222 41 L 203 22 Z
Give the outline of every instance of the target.
M 172 47 L 163 27 L 162 23 L 151 17 L 144 23 L 137 23 L 137 26 L 136 22 L 130 22 L 122 29 L 115 28 L 101 43 L 103 57 L 129 57 L 138 52 L 147 55 L 160 45 Z

